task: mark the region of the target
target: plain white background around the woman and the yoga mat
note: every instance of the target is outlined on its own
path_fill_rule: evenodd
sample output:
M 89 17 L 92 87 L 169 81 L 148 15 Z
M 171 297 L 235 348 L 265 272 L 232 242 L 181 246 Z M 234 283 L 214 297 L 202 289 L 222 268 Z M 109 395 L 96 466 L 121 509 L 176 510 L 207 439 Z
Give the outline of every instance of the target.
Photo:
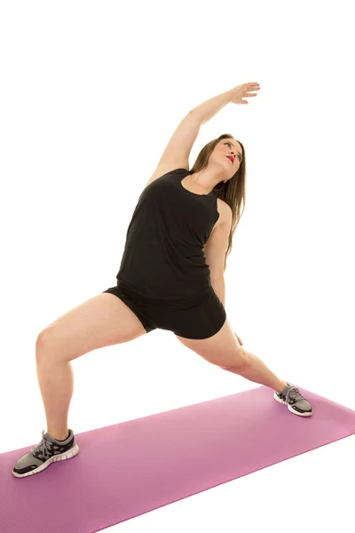
M 115 285 L 138 196 L 177 123 L 246 82 L 258 96 L 203 125 L 190 158 L 225 132 L 246 150 L 227 316 L 280 378 L 355 409 L 351 3 L 8 2 L 0 20 L 0 452 L 41 440 L 36 337 Z M 73 368 L 75 434 L 257 386 L 164 330 Z M 111 530 L 351 531 L 354 444 Z

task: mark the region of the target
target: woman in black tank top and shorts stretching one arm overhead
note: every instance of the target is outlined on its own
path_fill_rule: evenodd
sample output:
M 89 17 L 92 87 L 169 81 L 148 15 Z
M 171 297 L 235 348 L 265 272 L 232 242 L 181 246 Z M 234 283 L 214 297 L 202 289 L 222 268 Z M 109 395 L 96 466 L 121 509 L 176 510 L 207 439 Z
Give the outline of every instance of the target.
M 269 386 L 296 415 L 311 416 L 299 390 L 242 348 L 225 314 L 225 262 L 245 201 L 245 150 L 232 135 L 202 148 L 189 171 L 200 127 L 229 102 L 248 104 L 260 85 L 242 84 L 195 107 L 177 126 L 130 221 L 117 284 L 52 322 L 36 341 L 36 368 L 46 415 L 42 441 L 20 457 L 13 475 L 41 472 L 79 449 L 67 414 L 71 361 L 155 329 L 206 361 Z M 237 338 L 236 338 L 237 337 Z M 238 340 L 237 340 L 238 339 Z M 239 342 L 238 342 L 239 341 Z

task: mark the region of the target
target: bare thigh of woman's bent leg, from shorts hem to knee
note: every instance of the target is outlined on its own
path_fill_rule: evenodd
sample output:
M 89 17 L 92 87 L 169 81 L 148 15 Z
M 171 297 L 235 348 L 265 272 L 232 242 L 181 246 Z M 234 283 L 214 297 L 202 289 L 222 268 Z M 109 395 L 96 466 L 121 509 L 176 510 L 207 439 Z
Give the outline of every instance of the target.
M 144 333 L 146 329 L 130 307 L 121 298 L 105 292 L 71 309 L 41 331 L 36 355 L 72 361 Z

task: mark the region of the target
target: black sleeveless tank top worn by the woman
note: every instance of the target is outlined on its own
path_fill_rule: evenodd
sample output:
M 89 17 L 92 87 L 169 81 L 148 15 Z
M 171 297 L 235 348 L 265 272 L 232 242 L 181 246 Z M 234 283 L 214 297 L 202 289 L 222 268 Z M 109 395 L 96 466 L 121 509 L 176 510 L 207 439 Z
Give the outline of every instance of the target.
M 192 301 L 210 288 L 202 251 L 215 226 L 217 191 L 197 195 L 176 169 L 154 179 L 139 196 L 127 230 L 117 280 L 144 298 Z

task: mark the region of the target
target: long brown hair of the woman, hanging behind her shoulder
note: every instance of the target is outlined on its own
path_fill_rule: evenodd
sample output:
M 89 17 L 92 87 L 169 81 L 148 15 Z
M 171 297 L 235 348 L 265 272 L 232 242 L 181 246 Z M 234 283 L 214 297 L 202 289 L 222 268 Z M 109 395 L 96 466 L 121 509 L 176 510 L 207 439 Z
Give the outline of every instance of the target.
M 209 155 L 212 154 L 213 150 L 217 146 L 218 142 L 222 139 L 234 139 L 233 135 L 230 133 L 224 133 L 220 135 L 218 139 L 211 140 L 206 146 L 201 149 L 200 154 L 197 156 L 193 168 L 191 169 L 191 174 L 194 172 L 203 171 L 209 163 Z M 234 139 L 237 140 L 237 139 Z M 224 200 L 225 203 L 228 203 L 229 207 L 232 209 L 232 227 L 231 232 L 228 237 L 228 246 L 225 252 L 225 267 L 227 257 L 232 251 L 233 248 L 233 235 L 235 230 L 238 227 L 239 221 L 241 220 L 241 215 L 245 209 L 245 196 L 246 196 L 246 163 L 245 163 L 245 149 L 241 144 L 241 141 L 238 140 L 242 149 L 241 164 L 238 171 L 235 172 L 233 178 L 228 179 L 226 183 L 221 181 L 213 189 L 217 191 L 218 198 Z M 242 206 L 241 206 L 242 203 Z

